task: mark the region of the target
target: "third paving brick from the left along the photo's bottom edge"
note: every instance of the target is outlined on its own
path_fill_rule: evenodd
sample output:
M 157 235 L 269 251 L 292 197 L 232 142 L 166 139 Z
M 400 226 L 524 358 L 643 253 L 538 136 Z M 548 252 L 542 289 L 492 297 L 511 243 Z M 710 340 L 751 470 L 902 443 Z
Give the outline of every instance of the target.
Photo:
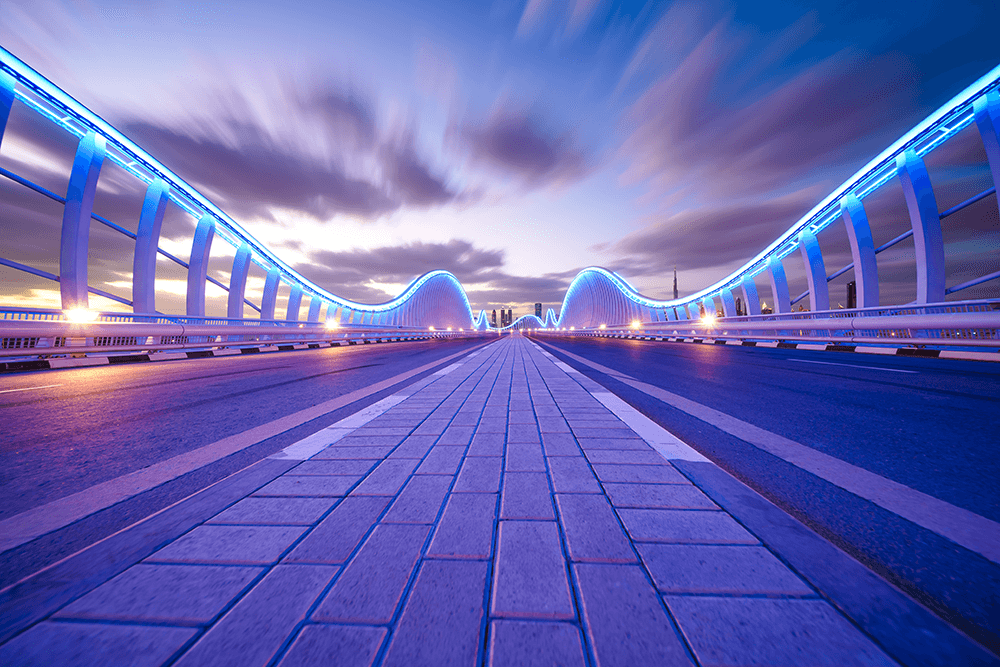
M 371 667 L 385 635 L 385 628 L 307 625 L 292 642 L 278 667 Z

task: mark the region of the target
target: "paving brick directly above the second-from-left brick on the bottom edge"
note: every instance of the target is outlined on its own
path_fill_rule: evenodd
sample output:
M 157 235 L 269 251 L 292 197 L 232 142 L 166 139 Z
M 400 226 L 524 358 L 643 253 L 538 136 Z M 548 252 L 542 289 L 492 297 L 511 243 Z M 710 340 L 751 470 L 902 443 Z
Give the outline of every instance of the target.
M 285 563 L 344 563 L 375 525 L 391 498 L 344 498 L 318 526 L 285 556 Z

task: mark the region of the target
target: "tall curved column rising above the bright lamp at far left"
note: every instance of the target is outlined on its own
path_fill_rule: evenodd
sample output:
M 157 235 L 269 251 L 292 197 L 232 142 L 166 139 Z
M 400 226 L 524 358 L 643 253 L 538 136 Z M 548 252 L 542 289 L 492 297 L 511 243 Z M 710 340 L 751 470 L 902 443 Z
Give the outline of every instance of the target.
M 88 132 L 80 140 L 73 159 L 59 243 L 59 292 L 64 309 L 90 305 L 87 294 L 90 216 L 106 153 L 104 137 Z

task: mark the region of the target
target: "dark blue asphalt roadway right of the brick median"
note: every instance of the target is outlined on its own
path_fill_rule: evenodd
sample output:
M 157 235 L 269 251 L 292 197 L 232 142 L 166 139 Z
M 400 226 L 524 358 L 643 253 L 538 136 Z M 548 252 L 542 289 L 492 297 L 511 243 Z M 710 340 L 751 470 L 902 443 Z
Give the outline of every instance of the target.
M 731 429 L 737 435 L 722 430 L 564 352 L 735 417 L 749 425 L 748 433 L 764 429 L 992 522 L 1000 522 L 1000 366 L 605 338 L 536 340 L 998 651 L 997 562 L 749 444 L 738 429 Z

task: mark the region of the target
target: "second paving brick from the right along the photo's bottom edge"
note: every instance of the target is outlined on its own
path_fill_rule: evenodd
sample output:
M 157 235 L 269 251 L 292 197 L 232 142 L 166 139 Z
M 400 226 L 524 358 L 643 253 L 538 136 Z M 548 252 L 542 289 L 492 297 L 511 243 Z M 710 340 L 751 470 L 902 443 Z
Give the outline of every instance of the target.
M 693 664 L 642 568 L 597 563 L 578 563 L 573 568 L 584 631 L 596 664 Z

